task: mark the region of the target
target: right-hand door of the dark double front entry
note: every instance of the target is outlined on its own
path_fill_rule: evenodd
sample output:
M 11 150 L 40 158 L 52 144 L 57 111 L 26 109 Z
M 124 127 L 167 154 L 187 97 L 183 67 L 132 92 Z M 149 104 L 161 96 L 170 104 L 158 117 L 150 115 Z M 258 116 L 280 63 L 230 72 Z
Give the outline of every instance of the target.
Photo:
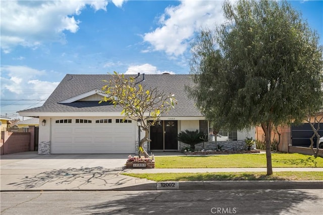
M 178 150 L 177 121 L 164 121 L 165 123 L 165 150 Z

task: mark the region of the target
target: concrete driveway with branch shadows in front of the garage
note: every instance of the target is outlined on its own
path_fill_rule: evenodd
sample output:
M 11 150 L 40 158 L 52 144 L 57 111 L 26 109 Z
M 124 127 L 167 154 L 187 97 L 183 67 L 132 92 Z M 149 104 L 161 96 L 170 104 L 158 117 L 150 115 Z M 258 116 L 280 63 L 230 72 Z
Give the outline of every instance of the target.
M 121 175 L 128 154 L 1 156 L 1 191 L 111 190 L 149 183 Z

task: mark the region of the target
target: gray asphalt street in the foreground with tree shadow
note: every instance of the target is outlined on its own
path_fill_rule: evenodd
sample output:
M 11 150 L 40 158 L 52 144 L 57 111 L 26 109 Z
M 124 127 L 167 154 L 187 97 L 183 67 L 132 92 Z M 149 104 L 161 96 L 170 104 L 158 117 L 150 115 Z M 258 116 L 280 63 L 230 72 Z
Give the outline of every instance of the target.
M 322 214 L 323 190 L 1 192 L 1 214 Z

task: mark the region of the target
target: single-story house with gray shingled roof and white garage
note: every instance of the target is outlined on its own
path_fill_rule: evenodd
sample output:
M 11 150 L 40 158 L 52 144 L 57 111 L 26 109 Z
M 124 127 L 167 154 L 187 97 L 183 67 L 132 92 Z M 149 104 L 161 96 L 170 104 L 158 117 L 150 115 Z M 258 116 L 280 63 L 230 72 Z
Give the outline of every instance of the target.
M 126 75 L 125 77 L 136 77 Z M 39 154 L 133 154 L 138 144 L 136 121 L 123 120 L 122 108 L 109 102 L 98 102 L 98 93 L 110 75 L 66 75 L 41 107 L 19 111 L 21 116 L 39 117 Z M 160 123 L 151 126 L 146 146 L 153 151 L 179 151 L 180 131 L 203 130 L 209 133 L 208 122 L 194 106 L 184 90 L 192 85 L 190 75 L 140 75 L 147 87 L 157 87 L 166 94 L 175 94 L 178 105 L 160 116 Z M 254 138 L 254 131 L 221 131 L 232 140 Z M 143 133 L 141 134 L 143 135 Z

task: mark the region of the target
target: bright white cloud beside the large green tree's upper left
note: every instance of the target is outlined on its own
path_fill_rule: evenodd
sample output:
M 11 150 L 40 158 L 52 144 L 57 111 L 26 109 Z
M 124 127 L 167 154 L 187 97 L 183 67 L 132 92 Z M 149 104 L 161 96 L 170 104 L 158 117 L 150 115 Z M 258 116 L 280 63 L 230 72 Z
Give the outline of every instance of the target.
M 177 7 L 168 7 L 159 18 L 161 27 L 146 33 L 144 41 L 151 44 L 150 51 L 181 55 L 201 27 L 224 22 L 222 4 L 222 1 L 181 1 Z

